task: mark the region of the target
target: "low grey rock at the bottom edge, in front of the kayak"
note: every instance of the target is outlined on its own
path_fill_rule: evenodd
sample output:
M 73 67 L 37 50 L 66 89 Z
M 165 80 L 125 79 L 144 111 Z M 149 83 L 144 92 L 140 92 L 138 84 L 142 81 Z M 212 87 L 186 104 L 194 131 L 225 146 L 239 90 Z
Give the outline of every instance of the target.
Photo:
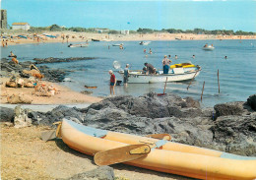
M 87 171 L 84 173 L 79 173 L 71 178 L 58 179 L 58 180 L 114 180 L 114 171 L 112 167 L 100 166 L 94 170 Z

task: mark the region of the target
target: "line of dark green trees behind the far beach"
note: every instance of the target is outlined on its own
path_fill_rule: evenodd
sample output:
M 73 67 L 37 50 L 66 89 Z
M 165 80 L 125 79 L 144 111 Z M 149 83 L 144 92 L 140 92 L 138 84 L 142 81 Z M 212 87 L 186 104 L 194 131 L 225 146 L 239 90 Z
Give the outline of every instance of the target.
M 58 25 L 52 25 L 49 27 L 31 27 L 32 32 L 40 32 L 43 30 L 48 31 L 78 31 L 78 32 L 102 32 L 118 34 L 120 30 L 108 30 L 108 29 L 85 29 L 80 27 L 65 28 Z M 99 31 L 100 30 L 100 31 Z M 204 30 L 204 29 L 194 29 L 194 30 L 176 30 L 176 29 L 162 29 L 162 30 L 152 30 L 152 29 L 141 29 L 130 30 L 130 33 L 155 33 L 155 32 L 168 32 L 168 33 L 194 33 L 194 34 L 214 34 L 214 35 L 255 35 L 256 32 L 243 31 L 243 30 Z

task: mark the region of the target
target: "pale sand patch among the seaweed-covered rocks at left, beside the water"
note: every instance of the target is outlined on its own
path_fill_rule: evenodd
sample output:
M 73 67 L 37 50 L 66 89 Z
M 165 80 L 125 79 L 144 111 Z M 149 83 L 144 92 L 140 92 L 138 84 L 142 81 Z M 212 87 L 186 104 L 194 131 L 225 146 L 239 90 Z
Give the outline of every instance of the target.
M 1 104 L 8 103 L 7 96 L 12 94 L 24 93 L 32 97 L 32 104 L 77 104 L 77 103 L 94 103 L 100 101 L 102 98 L 83 94 L 74 90 L 70 90 L 66 87 L 60 86 L 56 83 L 42 82 L 45 85 L 52 85 L 54 88 L 59 90 L 59 93 L 52 96 L 37 96 L 32 94 L 34 91 L 33 88 L 7 88 L 5 83 L 8 81 L 8 78 L 0 78 L 0 81 L 3 83 L 1 85 Z

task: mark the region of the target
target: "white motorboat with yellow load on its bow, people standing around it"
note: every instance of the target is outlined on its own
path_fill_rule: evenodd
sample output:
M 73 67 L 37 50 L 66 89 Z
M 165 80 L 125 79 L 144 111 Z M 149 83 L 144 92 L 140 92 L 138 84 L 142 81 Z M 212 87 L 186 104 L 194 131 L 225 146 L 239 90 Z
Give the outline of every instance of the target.
M 200 74 L 201 67 L 191 63 L 182 63 L 171 65 L 168 74 L 163 74 L 163 71 L 157 71 L 157 74 L 145 74 L 142 70 L 129 70 L 129 84 L 152 84 L 166 82 L 182 82 L 188 81 Z M 124 71 L 118 72 L 122 77 Z

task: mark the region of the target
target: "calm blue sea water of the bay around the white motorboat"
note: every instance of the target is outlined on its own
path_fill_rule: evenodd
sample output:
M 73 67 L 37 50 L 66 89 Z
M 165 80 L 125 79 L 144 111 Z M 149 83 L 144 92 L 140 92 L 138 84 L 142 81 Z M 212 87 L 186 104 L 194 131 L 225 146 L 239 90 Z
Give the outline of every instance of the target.
M 124 43 L 124 49 L 112 46 Z M 214 44 L 214 51 L 204 51 L 202 46 Z M 108 49 L 108 46 L 110 47 Z M 153 54 L 145 54 L 151 48 Z M 2 48 L 2 57 L 7 57 L 12 50 L 20 61 L 32 61 L 33 58 L 47 57 L 96 57 L 96 60 L 78 61 L 72 63 L 47 64 L 51 68 L 74 70 L 67 78 L 72 82 L 62 83 L 72 90 L 87 90 L 87 86 L 96 86 L 93 95 L 107 96 L 109 94 L 108 70 L 113 69 L 112 62 L 119 61 L 124 68 L 129 63 L 131 69 L 137 70 L 148 62 L 161 67 L 164 55 L 171 55 L 172 64 L 191 61 L 200 65 L 202 71 L 192 82 L 168 83 L 165 92 L 172 92 L 182 97 L 192 96 L 200 100 L 203 83 L 203 106 L 213 106 L 227 101 L 245 101 L 247 97 L 256 93 L 256 40 L 171 40 L 152 41 L 147 46 L 139 45 L 139 41 L 90 42 L 89 47 L 68 48 L 67 43 L 23 44 Z M 146 57 L 146 55 L 148 57 Z M 177 55 L 178 59 L 174 59 Z M 192 58 L 195 55 L 195 59 Z M 227 56 L 227 59 L 224 59 Z M 221 93 L 218 88 L 217 72 L 220 71 Z M 115 73 L 118 80 L 121 77 Z M 142 95 L 149 91 L 162 92 L 163 83 L 128 85 L 127 88 L 117 86 L 116 94 Z

